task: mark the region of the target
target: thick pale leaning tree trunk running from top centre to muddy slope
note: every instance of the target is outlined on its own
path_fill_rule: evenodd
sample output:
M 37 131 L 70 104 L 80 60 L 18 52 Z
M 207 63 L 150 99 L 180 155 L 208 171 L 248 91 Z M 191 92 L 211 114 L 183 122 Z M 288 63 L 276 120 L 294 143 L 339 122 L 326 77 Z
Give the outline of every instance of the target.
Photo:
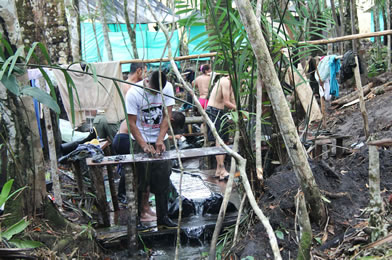
M 269 84 L 266 84 L 266 90 L 271 100 L 298 182 L 302 187 L 307 202 L 311 206 L 312 220 L 317 221 L 321 225 L 325 223 L 327 216 L 321 193 L 310 169 L 305 149 L 299 139 L 289 106 L 274 69 L 261 29 L 258 26 L 256 16 L 249 0 L 236 0 L 235 2 L 252 45 L 258 69 L 260 72 L 263 72 L 263 81 L 269 82 Z

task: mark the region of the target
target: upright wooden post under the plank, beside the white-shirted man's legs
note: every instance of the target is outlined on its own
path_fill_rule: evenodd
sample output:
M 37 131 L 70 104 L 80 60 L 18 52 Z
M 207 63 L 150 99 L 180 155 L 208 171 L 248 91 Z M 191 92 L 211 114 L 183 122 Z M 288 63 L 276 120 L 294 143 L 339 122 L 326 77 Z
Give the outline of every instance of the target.
M 128 239 L 128 255 L 137 254 L 138 250 L 138 197 L 137 197 L 137 174 L 132 174 L 132 166 L 124 164 L 125 174 L 125 190 L 127 195 L 127 239 Z

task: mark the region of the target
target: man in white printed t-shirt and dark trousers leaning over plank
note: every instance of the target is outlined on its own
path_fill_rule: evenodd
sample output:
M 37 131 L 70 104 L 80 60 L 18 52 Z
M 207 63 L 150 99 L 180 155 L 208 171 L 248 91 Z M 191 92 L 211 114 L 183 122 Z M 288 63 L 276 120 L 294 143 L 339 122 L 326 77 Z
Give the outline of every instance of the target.
M 166 75 L 160 71 L 152 72 L 147 79 L 137 84 L 144 88 L 133 87 L 126 96 L 133 152 L 160 156 L 169 147 L 167 118 L 171 118 L 175 104 L 174 99 L 170 98 L 174 97 L 173 86 L 167 82 Z M 159 92 L 151 91 L 159 91 L 160 84 L 162 84 L 163 93 L 167 95 L 163 98 Z M 168 114 L 164 111 L 163 103 L 167 107 Z M 139 193 L 147 192 L 149 185 L 150 191 L 155 194 L 158 228 L 176 228 L 177 225 L 167 215 L 171 161 L 136 163 L 135 165 L 135 172 L 139 177 Z

